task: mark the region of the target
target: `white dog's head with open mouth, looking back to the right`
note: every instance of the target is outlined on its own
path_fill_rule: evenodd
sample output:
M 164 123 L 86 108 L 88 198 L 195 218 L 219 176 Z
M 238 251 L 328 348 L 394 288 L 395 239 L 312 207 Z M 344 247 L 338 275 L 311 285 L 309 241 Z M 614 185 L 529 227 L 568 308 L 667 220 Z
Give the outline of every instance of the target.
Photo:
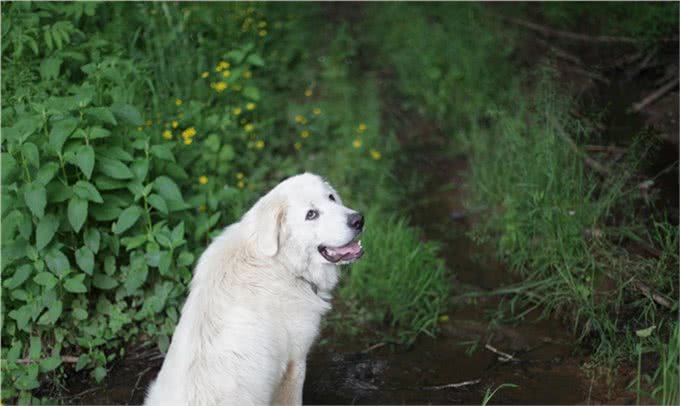
M 364 251 L 357 238 L 364 217 L 342 204 L 338 193 L 310 173 L 286 179 L 263 196 L 246 215 L 255 224 L 260 253 L 304 257 L 310 263 L 344 264 Z

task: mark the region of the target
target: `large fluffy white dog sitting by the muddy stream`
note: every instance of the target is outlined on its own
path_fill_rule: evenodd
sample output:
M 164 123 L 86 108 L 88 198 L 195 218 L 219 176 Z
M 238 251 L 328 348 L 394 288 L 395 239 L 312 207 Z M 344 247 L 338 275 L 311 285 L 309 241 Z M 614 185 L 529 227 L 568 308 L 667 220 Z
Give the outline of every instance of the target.
M 337 264 L 363 255 L 361 214 L 322 178 L 291 177 L 198 261 L 146 405 L 302 404 L 307 353 Z

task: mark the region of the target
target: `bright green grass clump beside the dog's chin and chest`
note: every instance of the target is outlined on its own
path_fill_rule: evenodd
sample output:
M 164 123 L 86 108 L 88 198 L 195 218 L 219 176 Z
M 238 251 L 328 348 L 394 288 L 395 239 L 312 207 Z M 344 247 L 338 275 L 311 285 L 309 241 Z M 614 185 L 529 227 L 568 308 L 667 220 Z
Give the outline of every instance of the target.
M 421 241 L 403 218 L 376 209 L 366 218 L 365 258 L 352 265 L 340 296 L 349 305 L 367 303 L 369 323 L 392 327 L 388 340 L 408 344 L 433 335 L 449 292 L 438 246 Z

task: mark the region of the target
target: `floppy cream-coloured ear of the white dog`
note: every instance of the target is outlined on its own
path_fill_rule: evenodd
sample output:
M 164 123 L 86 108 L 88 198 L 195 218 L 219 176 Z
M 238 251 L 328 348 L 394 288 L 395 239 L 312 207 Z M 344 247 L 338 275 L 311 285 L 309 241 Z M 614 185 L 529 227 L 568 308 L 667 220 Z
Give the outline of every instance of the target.
M 285 202 L 280 197 L 265 196 L 258 202 L 252 219 L 255 224 L 255 248 L 273 257 L 279 251 Z

